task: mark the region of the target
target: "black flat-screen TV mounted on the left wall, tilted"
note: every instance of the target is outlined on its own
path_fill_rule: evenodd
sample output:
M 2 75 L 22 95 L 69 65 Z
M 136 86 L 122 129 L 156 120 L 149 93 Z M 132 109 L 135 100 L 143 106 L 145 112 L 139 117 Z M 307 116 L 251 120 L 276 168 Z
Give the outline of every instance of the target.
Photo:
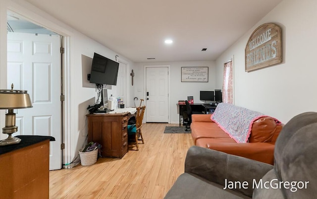
M 116 85 L 118 69 L 119 63 L 95 53 L 91 66 L 90 82 L 97 84 Z

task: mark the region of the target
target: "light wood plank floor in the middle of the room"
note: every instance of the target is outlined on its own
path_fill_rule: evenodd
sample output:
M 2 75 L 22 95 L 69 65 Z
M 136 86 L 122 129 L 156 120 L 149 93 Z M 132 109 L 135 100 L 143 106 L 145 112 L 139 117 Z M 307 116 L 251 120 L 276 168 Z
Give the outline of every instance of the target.
M 122 159 L 50 171 L 50 199 L 162 199 L 184 173 L 190 133 L 163 133 L 173 124 L 144 124 L 144 144 Z M 135 149 L 135 147 L 134 147 Z

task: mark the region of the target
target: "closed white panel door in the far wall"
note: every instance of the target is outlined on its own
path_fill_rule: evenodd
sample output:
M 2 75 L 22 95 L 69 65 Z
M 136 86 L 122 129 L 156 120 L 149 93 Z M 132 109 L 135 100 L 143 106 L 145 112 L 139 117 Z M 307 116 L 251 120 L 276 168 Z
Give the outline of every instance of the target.
M 168 122 L 168 67 L 146 68 L 147 122 Z

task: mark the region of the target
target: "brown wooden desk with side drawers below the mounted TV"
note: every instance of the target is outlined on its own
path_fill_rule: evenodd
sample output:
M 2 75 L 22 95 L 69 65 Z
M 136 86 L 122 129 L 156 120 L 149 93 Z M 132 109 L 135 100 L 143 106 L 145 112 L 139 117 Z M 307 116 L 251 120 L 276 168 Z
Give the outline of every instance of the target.
M 122 158 L 128 152 L 128 120 L 135 112 L 136 108 L 122 108 L 86 115 L 88 142 L 100 143 L 103 157 Z

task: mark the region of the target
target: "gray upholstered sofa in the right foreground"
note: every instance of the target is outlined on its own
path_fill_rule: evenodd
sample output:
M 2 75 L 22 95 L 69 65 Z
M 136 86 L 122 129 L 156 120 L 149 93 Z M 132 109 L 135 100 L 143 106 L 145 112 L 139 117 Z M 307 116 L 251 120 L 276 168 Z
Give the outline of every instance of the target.
M 317 113 L 295 116 L 275 143 L 274 166 L 192 146 L 164 199 L 316 199 Z

